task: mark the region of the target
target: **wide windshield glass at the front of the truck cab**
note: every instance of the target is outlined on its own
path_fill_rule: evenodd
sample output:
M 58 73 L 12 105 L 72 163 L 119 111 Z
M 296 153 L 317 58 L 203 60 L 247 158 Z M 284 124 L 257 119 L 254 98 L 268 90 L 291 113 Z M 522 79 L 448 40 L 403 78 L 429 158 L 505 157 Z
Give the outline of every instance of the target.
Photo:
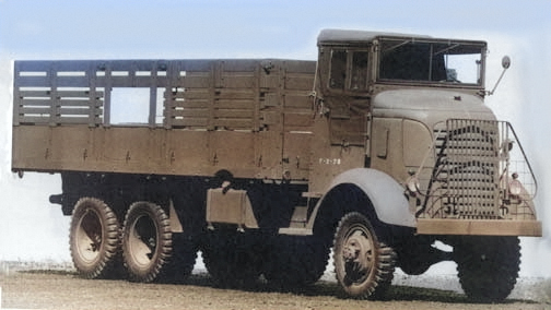
M 481 43 L 380 40 L 379 80 L 482 85 Z

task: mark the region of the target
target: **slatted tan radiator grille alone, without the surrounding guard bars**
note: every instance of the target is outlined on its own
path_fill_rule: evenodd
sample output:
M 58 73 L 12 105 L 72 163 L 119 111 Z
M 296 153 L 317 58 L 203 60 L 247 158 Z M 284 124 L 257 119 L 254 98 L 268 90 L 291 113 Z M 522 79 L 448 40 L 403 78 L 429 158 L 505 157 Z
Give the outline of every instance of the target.
M 497 121 L 450 119 L 437 154 L 441 159 L 444 210 L 458 218 L 499 216 Z

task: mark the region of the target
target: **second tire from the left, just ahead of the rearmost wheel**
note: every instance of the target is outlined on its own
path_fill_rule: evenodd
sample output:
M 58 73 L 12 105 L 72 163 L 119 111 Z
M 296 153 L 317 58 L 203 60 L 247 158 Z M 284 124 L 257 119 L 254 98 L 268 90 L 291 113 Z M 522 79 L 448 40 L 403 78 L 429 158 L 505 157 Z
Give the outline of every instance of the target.
M 163 208 L 150 202 L 130 205 L 122 228 L 122 258 L 130 281 L 156 279 L 171 254 L 171 223 Z

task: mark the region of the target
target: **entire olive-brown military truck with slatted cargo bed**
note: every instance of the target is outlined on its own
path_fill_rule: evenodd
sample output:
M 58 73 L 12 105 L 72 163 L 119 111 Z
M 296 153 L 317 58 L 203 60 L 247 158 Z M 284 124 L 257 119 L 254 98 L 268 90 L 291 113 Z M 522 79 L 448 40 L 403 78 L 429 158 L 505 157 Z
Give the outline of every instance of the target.
M 180 282 L 201 252 L 219 285 L 301 287 L 332 250 L 350 297 L 455 261 L 469 298 L 505 299 L 542 227 L 486 43 L 325 29 L 318 51 L 15 61 L 12 169 L 60 175 L 86 278 Z

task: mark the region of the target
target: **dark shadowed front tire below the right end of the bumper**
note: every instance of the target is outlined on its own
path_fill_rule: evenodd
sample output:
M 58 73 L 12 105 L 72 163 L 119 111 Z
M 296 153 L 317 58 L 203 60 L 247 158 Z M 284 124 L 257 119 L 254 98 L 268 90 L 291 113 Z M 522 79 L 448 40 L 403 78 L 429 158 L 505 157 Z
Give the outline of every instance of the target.
M 518 277 L 518 237 L 464 237 L 454 249 L 459 282 L 478 302 L 503 301 Z

